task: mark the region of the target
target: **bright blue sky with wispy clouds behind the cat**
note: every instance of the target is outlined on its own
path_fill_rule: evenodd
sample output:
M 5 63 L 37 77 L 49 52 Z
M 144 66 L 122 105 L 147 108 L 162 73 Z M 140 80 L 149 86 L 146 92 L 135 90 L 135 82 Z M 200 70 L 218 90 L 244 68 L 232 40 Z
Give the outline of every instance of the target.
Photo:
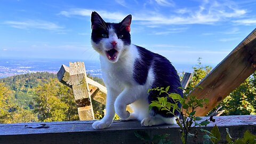
M 256 26 L 256 1 L 0 0 L 0 57 L 98 60 L 90 15 L 132 14 L 132 43 L 173 63 L 217 65 Z

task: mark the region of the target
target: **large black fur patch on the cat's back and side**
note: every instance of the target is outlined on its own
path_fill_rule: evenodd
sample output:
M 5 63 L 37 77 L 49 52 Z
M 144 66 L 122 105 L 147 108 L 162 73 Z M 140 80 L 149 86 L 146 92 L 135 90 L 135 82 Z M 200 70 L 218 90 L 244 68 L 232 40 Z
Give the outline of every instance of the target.
M 143 47 L 137 46 L 137 49 L 141 59 L 135 60 L 133 70 L 134 80 L 140 85 L 144 85 L 147 81 L 148 70 L 152 67 L 155 75 L 155 82 L 151 88 L 165 88 L 170 86 L 169 93 L 178 93 L 183 98 L 182 90 L 178 89 L 178 87 L 181 87 L 180 78 L 171 62 L 162 55 L 150 52 Z M 158 91 L 150 91 L 148 102 L 151 103 L 151 101 L 157 100 L 157 97 L 167 97 L 167 94 L 162 93 L 159 95 Z M 174 102 L 169 97 L 167 97 L 167 101 Z M 181 107 L 181 104 L 178 103 L 178 106 Z M 172 114 L 167 114 L 167 111 L 159 111 L 156 107 L 153 107 L 150 111 L 150 115 L 154 116 L 156 114 L 164 117 L 173 117 Z M 175 111 L 174 114 L 179 115 L 178 111 Z

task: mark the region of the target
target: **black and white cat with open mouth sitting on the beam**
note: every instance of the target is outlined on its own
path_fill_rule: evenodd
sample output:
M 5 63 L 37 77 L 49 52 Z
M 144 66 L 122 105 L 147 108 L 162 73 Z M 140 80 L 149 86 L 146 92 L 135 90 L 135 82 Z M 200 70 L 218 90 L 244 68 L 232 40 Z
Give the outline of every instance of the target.
M 132 15 L 127 15 L 120 23 L 109 23 L 92 12 L 91 43 L 100 54 L 103 81 L 108 90 L 106 115 L 93 123 L 94 129 L 109 127 L 115 113 L 123 120 L 138 119 L 142 126 L 176 123 L 172 114 L 156 107 L 148 109 L 151 101 L 167 95 L 147 91 L 170 86 L 169 93 L 182 95 L 177 71 L 162 55 L 131 44 L 131 20 Z M 169 98 L 168 101 L 171 102 Z M 126 111 L 130 104 L 133 113 Z M 178 111 L 175 115 L 179 115 Z

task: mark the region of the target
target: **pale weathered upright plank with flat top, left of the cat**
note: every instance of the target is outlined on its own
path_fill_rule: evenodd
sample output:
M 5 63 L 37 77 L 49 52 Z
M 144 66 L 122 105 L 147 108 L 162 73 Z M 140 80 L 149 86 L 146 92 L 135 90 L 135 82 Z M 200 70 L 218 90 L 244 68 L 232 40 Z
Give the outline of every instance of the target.
M 89 95 L 89 86 L 86 82 L 86 73 L 84 62 L 69 62 L 70 81 L 78 106 L 78 115 L 80 120 L 94 119 L 92 102 Z

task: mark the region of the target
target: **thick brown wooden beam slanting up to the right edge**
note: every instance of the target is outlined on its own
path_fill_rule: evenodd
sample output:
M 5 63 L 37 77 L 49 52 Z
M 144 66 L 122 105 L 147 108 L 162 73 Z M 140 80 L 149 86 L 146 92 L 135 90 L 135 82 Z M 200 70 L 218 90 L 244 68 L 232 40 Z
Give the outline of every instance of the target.
M 209 104 L 196 109 L 196 116 L 205 116 L 227 95 L 234 91 L 256 69 L 256 29 L 247 36 L 210 74 L 208 74 L 190 95 L 198 99 L 208 98 Z

